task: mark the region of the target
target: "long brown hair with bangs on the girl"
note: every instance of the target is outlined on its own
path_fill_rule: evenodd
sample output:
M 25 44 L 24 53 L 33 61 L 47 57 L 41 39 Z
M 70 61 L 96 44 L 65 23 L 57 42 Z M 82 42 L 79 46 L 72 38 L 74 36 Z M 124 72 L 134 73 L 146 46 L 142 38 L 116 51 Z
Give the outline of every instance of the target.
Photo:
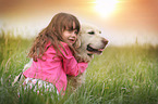
M 73 27 L 74 24 L 75 24 L 75 27 Z M 37 58 L 41 58 L 41 56 L 44 55 L 44 53 L 47 51 L 47 49 L 50 46 L 53 46 L 53 48 L 57 52 L 57 55 L 59 52 L 62 54 L 59 47 L 61 47 L 64 50 L 63 46 L 60 42 L 60 41 L 63 41 L 63 38 L 62 38 L 63 30 L 76 29 L 78 32 L 80 27 L 81 27 L 80 22 L 74 15 L 68 14 L 68 13 L 56 14 L 52 17 L 49 25 L 38 34 L 37 38 L 34 41 L 33 47 L 29 50 L 28 56 L 33 57 L 33 60 L 37 62 Z M 50 46 L 48 46 L 46 48 L 46 46 L 49 42 L 50 42 Z M 66 41 L 64 41 L 64 42 L 66 42 Z M 69 44 L 69 47 L 74 54 L 76 52 L 76 50 L 70 44 Z M 64 50 L 64 52 L 65 52 L 65 50 Z

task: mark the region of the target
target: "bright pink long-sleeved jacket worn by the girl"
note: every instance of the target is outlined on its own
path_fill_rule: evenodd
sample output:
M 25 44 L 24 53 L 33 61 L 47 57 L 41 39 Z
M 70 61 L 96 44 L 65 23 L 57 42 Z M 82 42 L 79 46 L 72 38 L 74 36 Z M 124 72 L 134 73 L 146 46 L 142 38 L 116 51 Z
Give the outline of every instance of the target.
M 37 62 L 33 61 L 31 68 L 26 69 L 23 75 L 51 82 L 59 92 L 65 91 L 68 83 L 66 75 L 77 76 L 78 73 L 84 73 L 88 64 L 77 63 L 69 46 L 64 42 L 61 43 L 68 53 L 60 48 L 65 57 L 62 55 L 56 56 L 56 50 L 53 47 L 49 47 L 42 55 L 44 61 L 40 58 Z

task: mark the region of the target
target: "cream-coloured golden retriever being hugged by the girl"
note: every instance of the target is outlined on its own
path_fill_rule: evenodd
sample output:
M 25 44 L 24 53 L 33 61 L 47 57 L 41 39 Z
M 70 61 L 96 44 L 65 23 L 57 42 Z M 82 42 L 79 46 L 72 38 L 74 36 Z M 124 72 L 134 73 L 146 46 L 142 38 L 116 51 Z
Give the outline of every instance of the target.
M 101 31 L 95 26 L 87 24 L 82 25 L 77 40 L 73 44 L 73 47 L 77 50 L 77 54 L 74 55 L 77 62 L 90 62 L 94 54 L 99 55 L 102 53 L 104 49 L 108 44 L 108 40 L 101 37 L 100 34 Z M 23 72 L 29 68 L 32 63 L 33 60 L 24 66 Z M 12 84 L 23 80 L 23 72 L 15 77 Z M 80 74 L 76 77 L 68 76 L 68 84 L 71 87 L 71 90 L 74 91 L 84 83 L 84 79 L 85 73 Z

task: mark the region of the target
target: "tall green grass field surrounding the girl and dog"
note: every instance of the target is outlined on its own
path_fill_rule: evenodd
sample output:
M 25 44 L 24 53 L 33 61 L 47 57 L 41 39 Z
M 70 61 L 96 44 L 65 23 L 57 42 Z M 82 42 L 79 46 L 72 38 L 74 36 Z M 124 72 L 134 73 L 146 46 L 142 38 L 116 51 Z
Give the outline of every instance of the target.
M 158 104 L 158 47 L 108 46 L 89 63 L 85 84 L 58 98 L 11 84 L 29 61 L 32 41 L 0 37 L 0 104 Z

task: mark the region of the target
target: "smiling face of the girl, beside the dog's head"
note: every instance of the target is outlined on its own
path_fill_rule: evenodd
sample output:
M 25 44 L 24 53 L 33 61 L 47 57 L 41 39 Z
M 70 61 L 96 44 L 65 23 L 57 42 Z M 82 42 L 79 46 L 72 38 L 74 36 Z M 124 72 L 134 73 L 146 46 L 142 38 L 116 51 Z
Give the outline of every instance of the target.
M 63 30 L 62 38 L 64 41 L 69 42 L 72 46 L 77 39 L 77 30 L 65 29 Z

